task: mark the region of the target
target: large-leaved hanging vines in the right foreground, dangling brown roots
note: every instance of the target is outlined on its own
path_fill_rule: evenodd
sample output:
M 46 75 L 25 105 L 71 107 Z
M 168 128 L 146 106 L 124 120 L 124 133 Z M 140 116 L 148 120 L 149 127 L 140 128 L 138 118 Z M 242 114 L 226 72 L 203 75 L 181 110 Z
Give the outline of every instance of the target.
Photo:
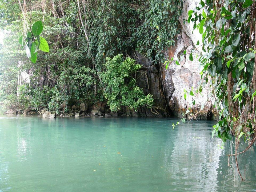
M 214 107 L 219 111 L 212 136 L 216 134 L 223 142 L 231 139 L 230 131 L 238 139 L 248 140 L 254 133 L 255 103 L 251 102 L 255 96 L 256 29 L 252 4 L 251 0 L 209 0 L 188 11 L 188 22 L 202 34 L 201 77 L 206 83 L 211 79 Z

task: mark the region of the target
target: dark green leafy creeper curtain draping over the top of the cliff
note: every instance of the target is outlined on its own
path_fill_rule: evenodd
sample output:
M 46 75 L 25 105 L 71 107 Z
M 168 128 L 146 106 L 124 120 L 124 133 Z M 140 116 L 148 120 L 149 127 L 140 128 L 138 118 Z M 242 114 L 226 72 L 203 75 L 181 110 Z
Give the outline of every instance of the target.
M 90 34 L 89 42 L 79 19 L 75 17 L 78 13 L 77 1 L 70 1 L 66 11 L 70 21 L 78 22 L 80 26 L 79 42 L 87 58 L 95 58 L 96 68 L 101 70 L 105 57 L 129 54 L 133 50 L 155 62 L 160 61 L 163 48 L 174 44 L 181 5 L 182 1 L 177 0 L 88 1 L 90 11 L 81 14 Z

